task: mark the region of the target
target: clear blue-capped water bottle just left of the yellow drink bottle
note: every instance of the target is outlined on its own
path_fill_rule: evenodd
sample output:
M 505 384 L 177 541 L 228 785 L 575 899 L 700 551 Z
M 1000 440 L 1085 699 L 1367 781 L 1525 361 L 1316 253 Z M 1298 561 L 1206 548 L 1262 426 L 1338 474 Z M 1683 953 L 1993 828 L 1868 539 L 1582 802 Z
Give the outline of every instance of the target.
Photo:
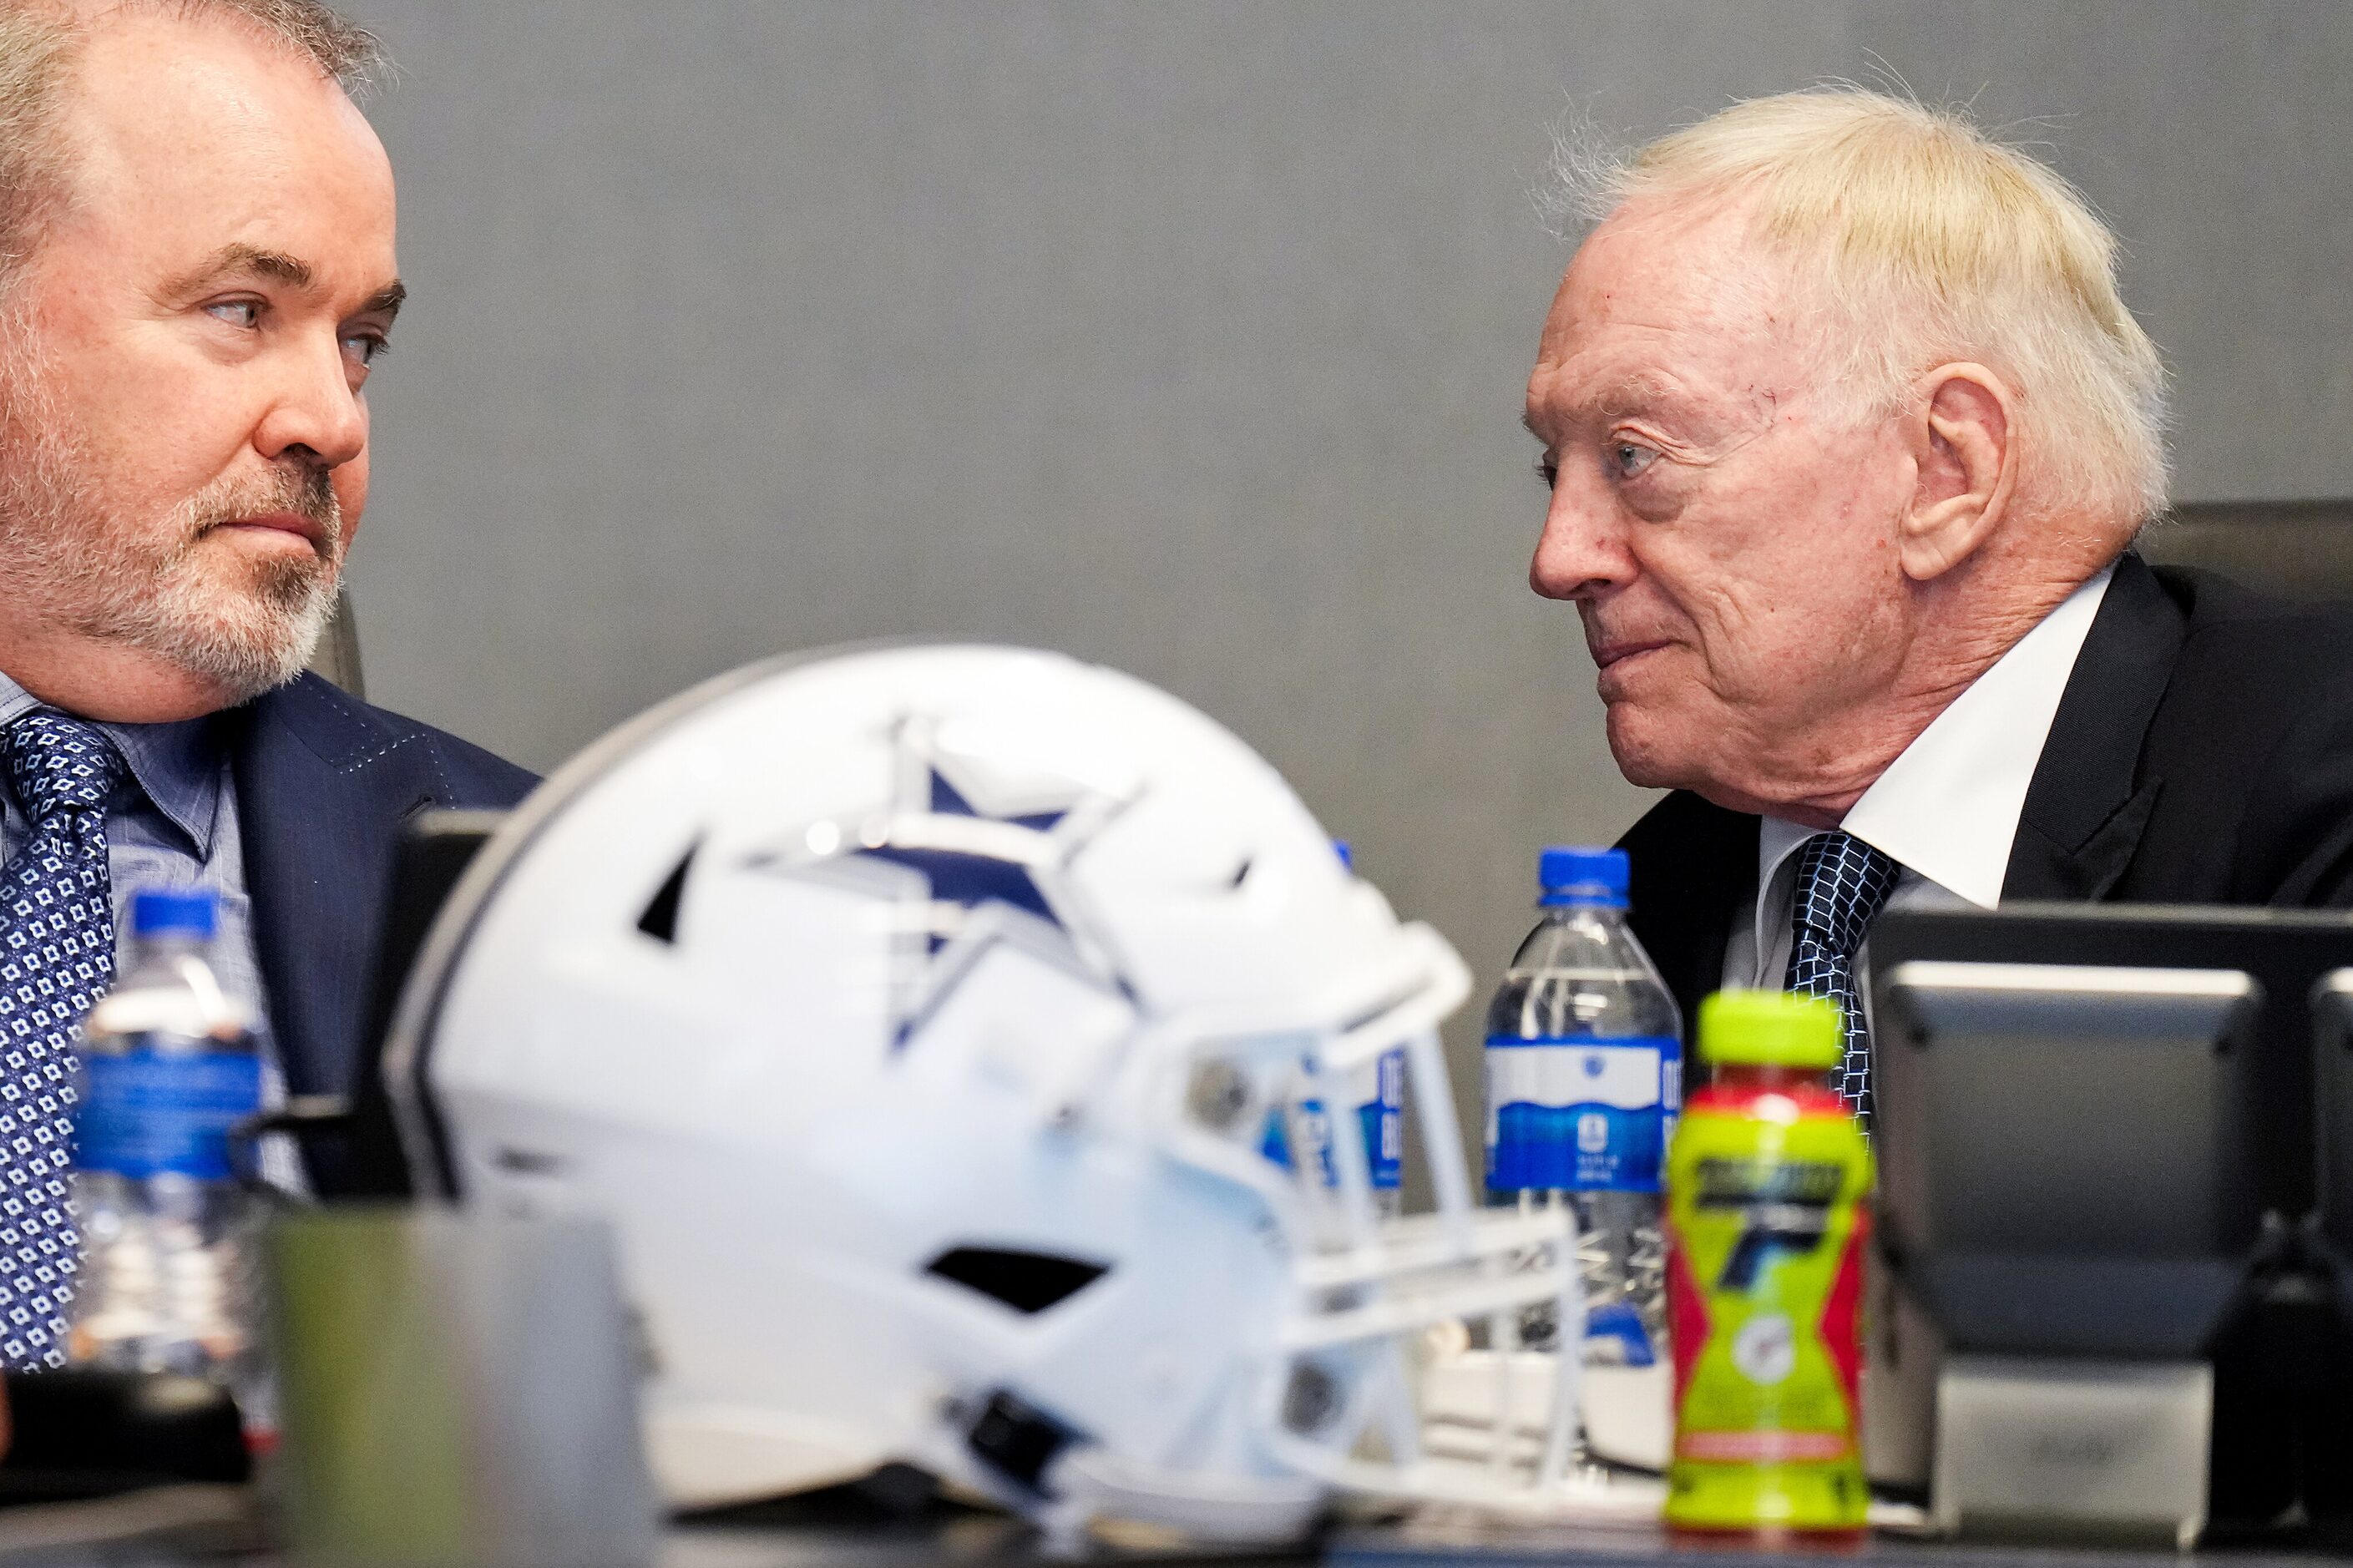
M 1487 1189 L 1577 1208 L 1584 1356 L 1654 1366 L 1666 1330 L 1659 1172 L 1682 1104 L 1682 1017 L 1626 930 L 1624 850 L 1555 845 L 1539 881 L 1544 918 L 1487 1008 Z

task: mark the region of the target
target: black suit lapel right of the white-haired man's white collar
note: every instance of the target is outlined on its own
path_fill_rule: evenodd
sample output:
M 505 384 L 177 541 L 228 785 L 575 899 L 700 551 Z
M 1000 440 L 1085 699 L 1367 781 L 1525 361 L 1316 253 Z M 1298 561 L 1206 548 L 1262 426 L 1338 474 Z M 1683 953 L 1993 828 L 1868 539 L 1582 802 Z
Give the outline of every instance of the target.
M 2002 902 L 2101 899 L 2125 876 L 2165 789 L 2162 779 L 2139 777 L 2139 765 L 2181 638 L 2181 607 L 2127 551 L 2026 789 Z

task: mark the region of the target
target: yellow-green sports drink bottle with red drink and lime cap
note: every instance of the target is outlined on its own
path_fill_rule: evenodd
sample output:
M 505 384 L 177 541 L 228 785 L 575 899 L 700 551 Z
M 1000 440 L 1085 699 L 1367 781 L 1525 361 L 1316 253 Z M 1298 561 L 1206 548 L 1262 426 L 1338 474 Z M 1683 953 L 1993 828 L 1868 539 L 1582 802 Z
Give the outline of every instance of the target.
M 1854 1535 L 1871 1147 L 1824 1088 L 1838 1008 L 1720 991 L 1699 1008 L 1711 1083 L 1666 1158 L 1675 1455 L 1687 1530 Z

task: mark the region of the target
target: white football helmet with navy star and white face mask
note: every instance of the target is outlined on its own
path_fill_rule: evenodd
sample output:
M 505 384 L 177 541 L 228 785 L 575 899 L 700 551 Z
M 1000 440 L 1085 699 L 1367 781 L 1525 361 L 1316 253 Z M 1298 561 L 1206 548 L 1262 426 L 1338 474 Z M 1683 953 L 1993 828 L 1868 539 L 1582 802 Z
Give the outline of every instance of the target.
M 1174 697 L 868 647 L 548 779 L 442 911 L 386 1074 L 424 1189 L 612 1217 L 673 1504 L 906 1462 L 1056 1530 L 1273 1540 L 1337 1493 L 1560 1476 L 1574 1389 L 1529 1441 L 1508 1351 L 1527 1307 L 1574 1335 L 1567 1220 L 1473 1203 L 1435 1038 L 1466 986 Z M 1358 1116 L 1318 1107 L 1400 1048 L 1435 1212 L 1381 1220 Z M 1268 1116 L 1320 1121 L 1329 1165 L 1268 1158 Z M 1417 1408 L 1461 1321 L 1522 1406 L 1473 1462 Z

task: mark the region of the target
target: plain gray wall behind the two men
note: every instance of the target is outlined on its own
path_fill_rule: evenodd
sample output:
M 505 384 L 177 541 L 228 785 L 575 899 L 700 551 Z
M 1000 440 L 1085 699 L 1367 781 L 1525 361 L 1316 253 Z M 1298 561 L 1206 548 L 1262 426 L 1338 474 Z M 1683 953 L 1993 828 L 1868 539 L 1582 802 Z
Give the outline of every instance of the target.
M 1525 586 L 1572 99 L 1974 101 L 2122 231 L 2179 492 L 2353 492 L 2353 5 L 351 2 L 414 290 L 372 695 L 536 768 L 776 650 L 1064 647 L 1233 725 L 1492 984 L 1534 850 L 1642 808 Z

